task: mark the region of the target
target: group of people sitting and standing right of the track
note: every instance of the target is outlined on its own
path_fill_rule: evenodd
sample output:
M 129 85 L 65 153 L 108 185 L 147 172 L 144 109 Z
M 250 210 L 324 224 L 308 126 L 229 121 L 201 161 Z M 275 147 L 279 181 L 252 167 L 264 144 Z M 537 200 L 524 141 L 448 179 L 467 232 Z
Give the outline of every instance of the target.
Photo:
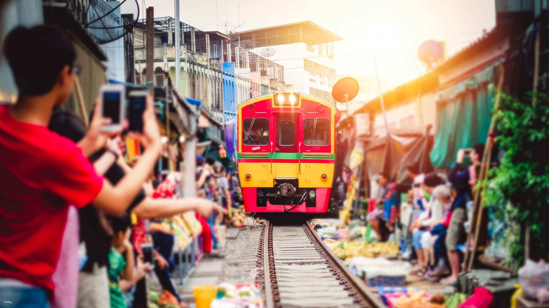
M 369 199 L 368 224 L 382 241 L 388 240 L 395 227 L 404 230 L 402 258 L 417 260 L 414 275 L 442 284 L 457 280 L 461 271 L 457 247 L 466 239 L 467 207 L 473 200 L 483 152 L 482 144 L 459 150 L 447 176 L 419 173 L 417 164 L 411 164 L 407 174 L 413 184 L 402 203 L 396 182 L 385 174 L 378 175 L 381 189 Z M 470 163 L 464 164 L 466 157 Z

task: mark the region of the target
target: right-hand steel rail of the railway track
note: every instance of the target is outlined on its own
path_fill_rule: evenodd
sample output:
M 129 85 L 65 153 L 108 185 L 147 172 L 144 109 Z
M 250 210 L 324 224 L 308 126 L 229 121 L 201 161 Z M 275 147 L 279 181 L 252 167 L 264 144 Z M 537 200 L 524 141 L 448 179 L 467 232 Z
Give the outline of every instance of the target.
M 383 301 L 378 298 L 379 296 L 371 292 L 364 282 L 351 273 L 343 261 L 322 241 L 322 238 L 312 226 L 311 221 L 304 223 L 303 229 L 307 233 L 307 236 L 310 236 L 316 251 L 324 259 L 324 264 L 332 272 L 332 275 L 335 276 L 335 279 L 339 280 L 339 284 L 343 284 L 344 289 L 349 291 L 349 296 L 353 296 L 353 301 L 359 307 L 386 307 Z

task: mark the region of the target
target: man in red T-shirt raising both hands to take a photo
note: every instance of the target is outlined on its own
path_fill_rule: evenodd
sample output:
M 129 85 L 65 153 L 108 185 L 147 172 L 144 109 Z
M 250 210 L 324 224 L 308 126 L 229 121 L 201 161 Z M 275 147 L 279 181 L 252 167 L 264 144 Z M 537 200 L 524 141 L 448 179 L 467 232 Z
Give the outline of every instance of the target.
M 70 40 L 48 26 L 16 28 L 5 38 L 4 55 L 19 98 L 0 105 L 0 307 L 48 307 L 69 205 L 92 203 L 111 215 L 124 213 L 158 158 L 160 136 L 149 98 L 143 134 L 133 136 L 145 151 L 111 185 L 85 157 L 103 147 L 99 128 L 109 119 L 96 112 L 78 145 L 47 128 L 79 71 Z

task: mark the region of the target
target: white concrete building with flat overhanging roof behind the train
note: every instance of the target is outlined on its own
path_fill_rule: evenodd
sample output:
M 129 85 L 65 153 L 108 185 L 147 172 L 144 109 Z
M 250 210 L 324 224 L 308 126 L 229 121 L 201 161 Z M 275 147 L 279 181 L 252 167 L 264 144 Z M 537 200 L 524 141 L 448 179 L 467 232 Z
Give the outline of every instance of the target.
M 231 42 L 256 54 L 272 53 L 268 59 L 285 67 L 303 67 L 284 72 L 284 89 L 332 101 L 336 72 L 334 41 L 341 37 L 311 21 L 231 33 Z M 266 49 L 268 48 L 268 49 Z M 263 84 L 263 83 L 261 83 Z M 291 85 L 291 86 L 290 86 Z

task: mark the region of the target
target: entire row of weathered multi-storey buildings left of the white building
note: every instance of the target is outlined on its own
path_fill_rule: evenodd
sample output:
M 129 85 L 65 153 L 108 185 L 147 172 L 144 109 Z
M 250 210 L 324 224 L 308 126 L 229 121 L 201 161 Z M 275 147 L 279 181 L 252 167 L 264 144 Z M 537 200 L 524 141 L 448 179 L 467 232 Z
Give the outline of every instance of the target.
M 231 107 L 231 100 L 236 104 L 236 81 L 242 75 L 248 79 L 254 73 L 260 73 L 266 84 L 278 85 L 282 83 L 284 68 L 272 61 L 268 61 L 257 54 L 237 47 L 229 42 L 230 37 L 217 31 L 200 31 L 197 28 L 181 24 L 181 68 L 180 88 L 181 96 L 197 99 L 211 112 L 215 121 L 225 122 L 226 112 L 236 115 L 236 106 Z M 155 85 L 164 85 L 164 71 L 169 71 L 175 83 L 175 19 L 171 17 L 154 19 L 154 79 Z M 144 84 L 146 80 L 145 64 L 145 20 L 139 20 L 134 28 L 133 41 L 135 45 L 135 83 Z M 225 62 L 234 62 L 234 72 Z M 225 73 L 223 72 L 225 69 Z M 228 71 L 227 71 L 228 70 Z M 235 95 L 223 94 L 223 87 L 229 87 L 230 75 L 235 79 Z M 224 80 L 227 84 L 224 84 Z M 242 83 L 242 87 L 245 87 Z M 250 85 L 248 85 L 250 87 Z M 276 89 L 276 88 L 275 88 Z M 227 107 L 224 105 L 228 104 Z

